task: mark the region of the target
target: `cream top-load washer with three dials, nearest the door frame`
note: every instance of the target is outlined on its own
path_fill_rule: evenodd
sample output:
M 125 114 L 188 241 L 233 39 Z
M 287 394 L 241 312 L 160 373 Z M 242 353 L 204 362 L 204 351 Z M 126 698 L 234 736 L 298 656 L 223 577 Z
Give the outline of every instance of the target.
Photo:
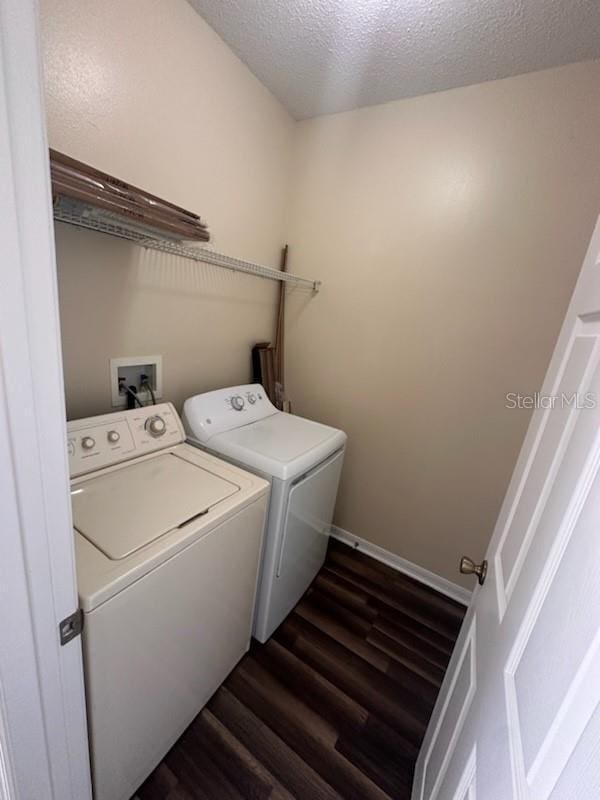
M 269 487 L 168 403 L 67 430 L 94 798 L 125 800 L 248 648 Z

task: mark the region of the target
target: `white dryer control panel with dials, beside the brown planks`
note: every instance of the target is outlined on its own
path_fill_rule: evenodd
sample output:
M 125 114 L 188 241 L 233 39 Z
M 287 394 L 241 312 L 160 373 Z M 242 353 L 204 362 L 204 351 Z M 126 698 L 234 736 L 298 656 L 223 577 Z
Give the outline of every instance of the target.
M 263 387 L 253 383 L 188 398 L 183 404 L 183 424 L 193 439 L 207 442 L 217 433 L 277 413 Z

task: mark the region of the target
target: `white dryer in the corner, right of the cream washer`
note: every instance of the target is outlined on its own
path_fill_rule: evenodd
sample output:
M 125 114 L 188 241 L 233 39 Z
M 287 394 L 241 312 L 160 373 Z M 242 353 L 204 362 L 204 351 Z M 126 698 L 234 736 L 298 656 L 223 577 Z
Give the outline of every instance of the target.
M 190 397 L 183 422 L 192 444 L 271 482 L 254 619 L 265 642 L 325 560 L 346 434 L 278 411 L 259 384 Z

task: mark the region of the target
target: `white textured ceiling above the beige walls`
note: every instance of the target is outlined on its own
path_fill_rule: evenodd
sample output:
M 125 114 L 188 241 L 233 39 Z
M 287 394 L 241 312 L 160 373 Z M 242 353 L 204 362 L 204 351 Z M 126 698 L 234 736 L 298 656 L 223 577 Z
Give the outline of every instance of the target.
M 296 119 L 600 57 L 600 0 L 189 0 Z

